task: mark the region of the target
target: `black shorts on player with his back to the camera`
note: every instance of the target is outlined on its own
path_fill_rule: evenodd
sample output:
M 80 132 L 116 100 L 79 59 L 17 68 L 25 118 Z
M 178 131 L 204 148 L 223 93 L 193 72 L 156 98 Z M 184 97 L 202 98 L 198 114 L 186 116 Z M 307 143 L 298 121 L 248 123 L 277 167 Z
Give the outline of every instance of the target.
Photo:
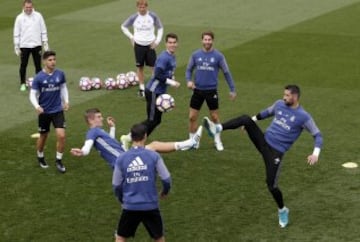
M 129 238 L 134 237 L 137 227 L 143 223 L 149 235 L 153 239 L 159 239 L 164 235 L 163 222 L 159 209 L 147 211 L 132 211 L 123 209 L 117 235 Z

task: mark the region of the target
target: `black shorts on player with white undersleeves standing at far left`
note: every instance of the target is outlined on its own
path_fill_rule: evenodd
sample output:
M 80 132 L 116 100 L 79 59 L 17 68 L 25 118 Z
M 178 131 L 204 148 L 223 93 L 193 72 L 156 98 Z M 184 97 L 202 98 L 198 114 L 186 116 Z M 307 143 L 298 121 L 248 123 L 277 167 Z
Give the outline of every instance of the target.
M 53 124 L 54 128 L 65 128 L 65 116 L 64 112 L 57 113 L 41 113 L 38 118 L 38 131 L 40 133 L 48 133 L 50 131 L 50 124 Z

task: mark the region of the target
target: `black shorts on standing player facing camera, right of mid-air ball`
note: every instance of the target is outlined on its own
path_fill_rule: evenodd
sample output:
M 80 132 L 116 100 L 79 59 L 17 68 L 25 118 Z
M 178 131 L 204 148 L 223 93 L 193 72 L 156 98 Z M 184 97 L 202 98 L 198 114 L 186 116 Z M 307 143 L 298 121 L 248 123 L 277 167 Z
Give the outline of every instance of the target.
M 196 110 L 200 110 L 204 101 L 206 101 L 209 110 L 219 109 L 219 95 L 217 90 L 194 89 L 190 100 L 190 107 Z

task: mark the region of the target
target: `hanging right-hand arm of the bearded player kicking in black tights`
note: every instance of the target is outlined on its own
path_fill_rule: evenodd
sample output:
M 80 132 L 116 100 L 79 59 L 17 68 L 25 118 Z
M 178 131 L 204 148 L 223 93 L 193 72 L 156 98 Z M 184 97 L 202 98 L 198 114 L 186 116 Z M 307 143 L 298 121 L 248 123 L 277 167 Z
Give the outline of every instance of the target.
M 323 145 L 323 137 L 319 128 L 311 117 L 305 123 L 304 128 L 314 137 L 313 153 L 307 157 L 307 162 L 310 165 L 314 165 L 319 160 L 321 147 Z

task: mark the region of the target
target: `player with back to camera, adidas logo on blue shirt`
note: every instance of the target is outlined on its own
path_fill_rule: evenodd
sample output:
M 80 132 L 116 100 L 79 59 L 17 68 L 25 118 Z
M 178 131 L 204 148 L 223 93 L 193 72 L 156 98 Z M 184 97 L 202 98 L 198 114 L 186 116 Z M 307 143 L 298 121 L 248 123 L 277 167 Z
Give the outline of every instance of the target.
M 145 149 L 146 126 L 131 128 L 133 147 L 118 157 L 113 173 L 113 189 L 122 204 L 122 214 L 116 231 L 116 241 L 134 237 L 143 223 L 151 238 L 165 241 L 159 210 L 156 176 L 162 182 L 160 197 L 165 198 L 171 187 L 171 177 L 163 159 L 155 151 Z

